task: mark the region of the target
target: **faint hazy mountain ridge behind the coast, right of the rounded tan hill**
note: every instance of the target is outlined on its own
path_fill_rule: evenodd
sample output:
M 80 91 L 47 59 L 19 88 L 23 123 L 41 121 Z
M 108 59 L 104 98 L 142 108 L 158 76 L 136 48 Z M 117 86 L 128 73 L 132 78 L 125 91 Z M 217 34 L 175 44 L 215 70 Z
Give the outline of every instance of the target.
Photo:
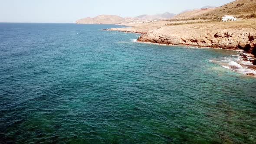
M 140 16 L 136 16 L 135 18 L 140 18 L 143 20 L 166 20 L 166 19 L 170 19 L 172 17 L 174 17 L 175 14 L 174 13 L 162 13 L 162 14 L 154 14 L 154 15 L 140 15 Z

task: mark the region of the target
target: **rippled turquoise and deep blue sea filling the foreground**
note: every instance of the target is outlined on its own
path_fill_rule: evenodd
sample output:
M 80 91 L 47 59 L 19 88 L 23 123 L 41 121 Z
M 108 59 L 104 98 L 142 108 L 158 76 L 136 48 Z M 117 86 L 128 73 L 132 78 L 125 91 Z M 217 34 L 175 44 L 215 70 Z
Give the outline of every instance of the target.
M 256 143 L 256 79 L 211 62 L 238 52 L 110 27 L 0 23 L 0 143 Z

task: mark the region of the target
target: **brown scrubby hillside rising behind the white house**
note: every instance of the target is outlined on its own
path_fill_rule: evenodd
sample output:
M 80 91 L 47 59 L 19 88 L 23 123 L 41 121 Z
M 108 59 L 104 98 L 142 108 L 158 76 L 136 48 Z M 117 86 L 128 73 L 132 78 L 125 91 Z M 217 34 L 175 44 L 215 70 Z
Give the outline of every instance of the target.
M 207 19 L 212 19 L 224 15 L 247 16 L 252 13 L 256 13 L 256 0 L 236 0 L 221 7 L 217 7 L 214 10 L 210 10 L 207 13 L 194 16 L 194 18 L 206 17 Z

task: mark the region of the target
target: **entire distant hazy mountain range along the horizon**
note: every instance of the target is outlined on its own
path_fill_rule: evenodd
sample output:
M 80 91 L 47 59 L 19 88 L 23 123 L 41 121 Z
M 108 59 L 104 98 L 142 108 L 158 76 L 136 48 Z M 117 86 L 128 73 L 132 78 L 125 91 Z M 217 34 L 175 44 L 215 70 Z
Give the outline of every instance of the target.
M 77 20 L 76 23 L 81 24 L 127 24 L 127 23 L 143 23 L 147 21 L 153 21 L 153 20 L 167 20 L 172 17 L 174 17 L 174 13 L 162 13 L 162 14 L 155 14 L 155 15 L 140 15 L 136 17 L 120 17 L 120 16 L 114 16 L 114 15 L 99 15 L 94 18 L 83 18 L 80 20 Z

